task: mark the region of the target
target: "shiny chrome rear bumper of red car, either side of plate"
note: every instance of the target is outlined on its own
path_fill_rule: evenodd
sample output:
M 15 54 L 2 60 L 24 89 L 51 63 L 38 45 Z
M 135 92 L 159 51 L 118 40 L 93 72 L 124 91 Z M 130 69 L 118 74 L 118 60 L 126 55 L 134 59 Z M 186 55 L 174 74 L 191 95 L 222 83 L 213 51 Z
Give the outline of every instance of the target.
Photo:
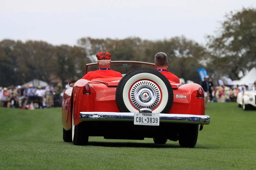
M 159 114 L 160 122 L 210 124 L 210 116 L 184 115 L 184 114 Z M 121 112 L 80 112 L 81 121 L 133 121 L 134 113 Z

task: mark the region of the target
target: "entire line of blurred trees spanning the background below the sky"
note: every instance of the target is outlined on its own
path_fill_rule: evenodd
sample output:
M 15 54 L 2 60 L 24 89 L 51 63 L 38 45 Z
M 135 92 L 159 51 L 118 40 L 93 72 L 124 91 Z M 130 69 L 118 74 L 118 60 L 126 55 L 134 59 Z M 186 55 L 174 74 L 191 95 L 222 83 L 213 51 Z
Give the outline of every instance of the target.
M 256 10 L 230 12 L 216 36 L 208 36 L 200 45 L 186 37 L 149 41 L 139 37 L 125 39 L 81 38 L 76 46 L 53 46 L 44 41 L 0 41 L 0 86 L 22 85 L 33 79 L 62 84 L 84 75 L 85 64 L 96 54 L 108 51 L 113 61 L 154 63 L 157 52 L 168 55 L 169 71 L 179 78 L 200 83 L 198 68 L 205 68 L 214 84 L 223 76 L 239 79 L 256 63 Z

